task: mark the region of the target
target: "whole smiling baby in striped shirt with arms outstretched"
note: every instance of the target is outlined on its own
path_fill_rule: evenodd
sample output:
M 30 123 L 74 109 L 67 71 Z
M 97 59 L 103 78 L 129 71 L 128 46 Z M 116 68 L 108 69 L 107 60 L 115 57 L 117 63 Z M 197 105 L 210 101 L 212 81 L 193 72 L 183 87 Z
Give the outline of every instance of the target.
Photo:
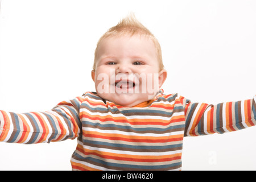
M 45 112 L 0 111 L 0 141 L 57 142 L 77 138 L 73 170 L 180 170 L 183 137 L 254 126 L 255 97 L 216 106 L 160 89 L 167 77 L 161 48 L 133 16 L 98 42 L 96 92 Z

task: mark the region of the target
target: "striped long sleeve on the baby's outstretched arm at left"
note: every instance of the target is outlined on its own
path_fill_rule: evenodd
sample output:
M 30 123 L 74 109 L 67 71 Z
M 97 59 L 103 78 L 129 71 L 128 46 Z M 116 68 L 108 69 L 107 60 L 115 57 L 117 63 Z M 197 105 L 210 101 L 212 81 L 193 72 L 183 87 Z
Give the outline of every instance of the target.
M 0 142 L 43 143 L 78 137 L 81 97 L 60 102 L 45 112 L 12 113 L 0 110 Z

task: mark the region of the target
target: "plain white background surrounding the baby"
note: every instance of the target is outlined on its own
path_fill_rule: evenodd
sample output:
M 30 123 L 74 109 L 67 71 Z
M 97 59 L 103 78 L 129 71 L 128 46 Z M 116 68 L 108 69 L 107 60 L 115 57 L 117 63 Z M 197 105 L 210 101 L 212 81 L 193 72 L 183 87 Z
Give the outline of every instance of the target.
M 256 94 L 256 1 L 2 0 L 0 109 L 52 109 L 94 91 L 100 36 L 130 12 L 159 39 L 164 93 L 192 102 L 238 101 Z M 184 138 L 183 170 L 255 170 L 256 127 Z M 0 170 L 71 170 L 76 140 L 0 143 Z

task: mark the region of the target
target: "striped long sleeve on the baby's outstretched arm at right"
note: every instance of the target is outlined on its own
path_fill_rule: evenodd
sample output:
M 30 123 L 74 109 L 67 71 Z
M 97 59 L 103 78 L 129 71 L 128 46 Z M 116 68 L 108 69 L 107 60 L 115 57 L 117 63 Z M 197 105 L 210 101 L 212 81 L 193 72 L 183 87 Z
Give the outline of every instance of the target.
M 256 96 L 251 100 L 217 105 L 192 103 L 183 98 L 185 108 L 184 136 L 225 133 L 256 125 Z

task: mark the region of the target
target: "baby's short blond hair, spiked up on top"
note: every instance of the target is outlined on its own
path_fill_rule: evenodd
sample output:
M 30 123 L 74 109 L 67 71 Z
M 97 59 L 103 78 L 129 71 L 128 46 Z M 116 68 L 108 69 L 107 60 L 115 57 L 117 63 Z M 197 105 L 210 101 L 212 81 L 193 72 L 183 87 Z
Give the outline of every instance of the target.
M 151 38 L 151 40 L 154 42 L 155 44 L 155 48 L 156 48 L 156 54 L 158 57 L 158 61 L 159 61 L 159 69 L 160 71 L 162 69 L 164 69 L 164 65 L 163 65 L 163 59 L 162 59 L 162 51 L 161 51 L 161 47 L 160 44 L 158 42 L 158 40 L 155 38 L 155 36 L 146 28 L 143 26 L 143 24 L 141 22 L 139 22 L 134 14 L 130 14 L 129 16 L 127 16 L 126 18 L 122 19 L 117 26 L 114 26 L 112 28 L 110 28 L 104 35 L 101 36 L 100 40 L 98 40 L 97 43 L 97 47 L 95 49 L 95 53 L 94 53 L 94 63 L 93 63 L 93 70 L 95 71 L 96 69 L 96 60 L 98 57 L 98 48 L 100 47 L 100 44 L 102 42 L 103 39 L 109 38 L 109 37 L 117 37 L 117 36 L 124 36 L 124 35 L 146 35 L 149 38 Z

